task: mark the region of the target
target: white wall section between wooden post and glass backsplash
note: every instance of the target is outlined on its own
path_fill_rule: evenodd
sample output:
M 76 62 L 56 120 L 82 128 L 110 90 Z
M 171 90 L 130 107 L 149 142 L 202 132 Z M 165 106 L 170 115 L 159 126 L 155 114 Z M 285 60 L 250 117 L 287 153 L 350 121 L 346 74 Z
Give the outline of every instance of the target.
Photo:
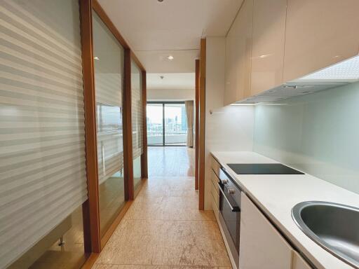
M 224 37 L 207 37 L 205 74 L 205 209 L 212 209 L 210 152 L 252 151 L 253 147 L 254 106 L 224 106 L 225 47 Z

